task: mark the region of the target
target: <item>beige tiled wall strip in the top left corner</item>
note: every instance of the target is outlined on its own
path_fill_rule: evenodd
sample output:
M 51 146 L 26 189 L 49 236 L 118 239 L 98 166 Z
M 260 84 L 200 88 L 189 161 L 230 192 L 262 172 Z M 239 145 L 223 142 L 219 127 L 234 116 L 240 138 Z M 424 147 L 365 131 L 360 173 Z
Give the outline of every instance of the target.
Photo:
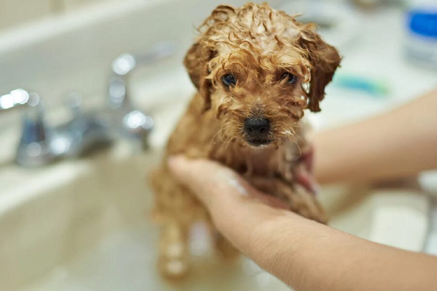
M 98 1 L 111 0 L 0 0 L 0 31 Z

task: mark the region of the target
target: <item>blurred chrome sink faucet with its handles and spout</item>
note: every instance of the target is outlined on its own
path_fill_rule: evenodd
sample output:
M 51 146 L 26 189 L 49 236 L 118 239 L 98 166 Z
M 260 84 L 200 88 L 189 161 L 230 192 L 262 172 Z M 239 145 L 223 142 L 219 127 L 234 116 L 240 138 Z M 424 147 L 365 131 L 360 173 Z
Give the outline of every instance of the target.
M 0 112 L 25 108 L 16 162 L 22 166 L 40 166 L 62 157 L 82 156 L 94 149 L 109 146 L 117 137 L 148 147 L 153 119 L 135 109 L 129 96 L 129 76 L 134 67 L 147 65 L 172 55 L 174 47 L 158 43 L 147 53 L 134 57 L 122 54 L 112 62 L 107 107 L 97 111 L 82 110 L 82 96 L 71 93 L 67 106 L 73 118 L 58 127 L 47 127 L 44 104 L 36 93 L 16 89 L 0 96 Z

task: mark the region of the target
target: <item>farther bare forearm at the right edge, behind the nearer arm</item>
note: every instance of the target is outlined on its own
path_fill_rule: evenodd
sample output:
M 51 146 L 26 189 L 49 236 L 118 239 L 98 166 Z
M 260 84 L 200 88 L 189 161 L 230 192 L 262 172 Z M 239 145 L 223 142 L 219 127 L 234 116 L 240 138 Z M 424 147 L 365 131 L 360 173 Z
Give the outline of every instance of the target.
M 437 89 L 383 115 L 314 136 L 321 184 L 403 178 L 437 168 Z

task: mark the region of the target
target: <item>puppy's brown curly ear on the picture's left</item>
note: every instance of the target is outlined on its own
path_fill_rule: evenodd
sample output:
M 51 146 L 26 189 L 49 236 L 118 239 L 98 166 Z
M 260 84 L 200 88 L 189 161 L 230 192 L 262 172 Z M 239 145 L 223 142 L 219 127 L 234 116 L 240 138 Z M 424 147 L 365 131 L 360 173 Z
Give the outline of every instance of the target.
M 214 52 L 202 45 L 202 39 L 188 49 L 185 55 L 184 65 L 191 81 L 196 86 L 204 100 L 204 111 L 211 108 L 211 87 L 208 62 L 213 58 Z

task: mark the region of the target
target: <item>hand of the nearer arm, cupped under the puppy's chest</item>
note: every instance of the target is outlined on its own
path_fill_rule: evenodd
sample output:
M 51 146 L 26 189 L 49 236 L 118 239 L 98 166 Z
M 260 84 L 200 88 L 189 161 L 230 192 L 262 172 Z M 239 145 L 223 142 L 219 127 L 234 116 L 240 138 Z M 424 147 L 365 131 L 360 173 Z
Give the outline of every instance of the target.
M 177 156 L 171 157 L 168 165 L 174 177 L 203 202 L 218 230 L 237 247 L 244 230 L 253 223 L 253 216 L 269 221 L 289 209 L 284 202 L 258 191 L 218 162 Z M 242 224 L 243 221 L 248 224 Z

